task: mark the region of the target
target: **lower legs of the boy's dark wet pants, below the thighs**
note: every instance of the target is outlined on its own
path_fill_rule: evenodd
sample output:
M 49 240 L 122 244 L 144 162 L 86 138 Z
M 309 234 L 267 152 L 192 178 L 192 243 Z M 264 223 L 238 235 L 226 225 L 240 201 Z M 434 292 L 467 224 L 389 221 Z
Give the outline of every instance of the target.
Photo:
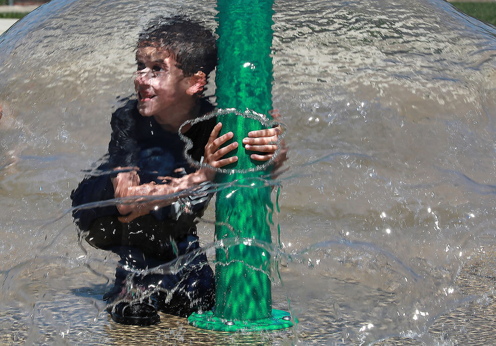
M 210 310 L 214 305 L 215 277 L 206 255 L 193 252 L 198 248 L 198 237 L 188 235 L 177 243 L 180 257 L 167 263 L 145 255 L 136 247 L 112 248 L 121 257 L 120 265 L 116 269 L 114 287 L 103 299 L 110 303 L 132 297 L 130 290 L 141 290 L 152 292 L 158 309 L 171 315 L 187 317 L 198 310 Z M 180 269 L 171 274 L 171 266 Z M 142 272 L 147 269 L 153 269 L 153 273 Z M 165 273 L 161 273 L 161 269 Z M 131 280 L 132 286 L 129 282 L 126 284 L 126 278 Z

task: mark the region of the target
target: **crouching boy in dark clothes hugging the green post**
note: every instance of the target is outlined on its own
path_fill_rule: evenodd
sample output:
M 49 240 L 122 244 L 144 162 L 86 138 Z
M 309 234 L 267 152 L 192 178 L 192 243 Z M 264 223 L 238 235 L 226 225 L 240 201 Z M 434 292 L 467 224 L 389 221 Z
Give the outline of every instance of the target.
M 114 287 L 103 297 L 112 319 L 153 325 L 160 322 L 157 307 L 186 317 L 214 305 L 212 269 L 205 254 L 192 251 L 199 248 L 194 220 L 203 215 L 210 199 L 202 191 L 215 171 L 188 164 L 178 132 L 186 121 L 214 109 L 201 96 L 217 63 L 215 38 L 188 19 L 157 21 L 139 35 L 136 62 L 137 99 L 127 100 L 112 114 L 108 158 L 98 167 L 100 174 L 86 177 L 71 198 L 73 206 L 135 196 L 146 200 L 75 209 L 73 216 L 90 245 L 120 256 Z M 233 137 L 229 132 L 217 138 L 221 127 L 215 118 L 182 127 L 193 143 L 188 153 L 194 160 L 222 167 L 238 159 L 223 158 L 238 144 L 221 148 Z M 280 128 L 254 131 L 243 143 L 260 152 L 251 158 L 268 160 L 279 134 Z M 190 189 L 195 190 L 187 197 L 152 198 Z M 188 263 L 178 272 L 145 272 L 184 254 L 190 254 Z M 129 287 L 134 287 L 132 292 Z

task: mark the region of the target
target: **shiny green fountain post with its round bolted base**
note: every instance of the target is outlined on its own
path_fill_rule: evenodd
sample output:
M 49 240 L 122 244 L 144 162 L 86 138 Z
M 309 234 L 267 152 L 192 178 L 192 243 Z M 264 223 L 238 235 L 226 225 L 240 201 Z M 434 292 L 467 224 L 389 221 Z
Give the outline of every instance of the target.
M 271 188 L 260 184 L 267 170 L 257 169 L 243 148 L 258 119 L 239 113 L 268 114 L 272 109 L 272 0 L 218 0 L 219 63 L 216 95 L 222 134 L 232 131 L 239 143 L 231 173 L 217 174 L 217 183 L 236 182 L 217 193 L 215 310 L 193 313 L 190 324 L 209 330 L 274 330 L 291 327 L 288 312 L 272 309 L 270 246 Z M 236 114 L 238 113 L 238 115 Z M 249 171 L 247 173 L 247 171 Z M 244 172 L 244 173 L 242 173 Z

